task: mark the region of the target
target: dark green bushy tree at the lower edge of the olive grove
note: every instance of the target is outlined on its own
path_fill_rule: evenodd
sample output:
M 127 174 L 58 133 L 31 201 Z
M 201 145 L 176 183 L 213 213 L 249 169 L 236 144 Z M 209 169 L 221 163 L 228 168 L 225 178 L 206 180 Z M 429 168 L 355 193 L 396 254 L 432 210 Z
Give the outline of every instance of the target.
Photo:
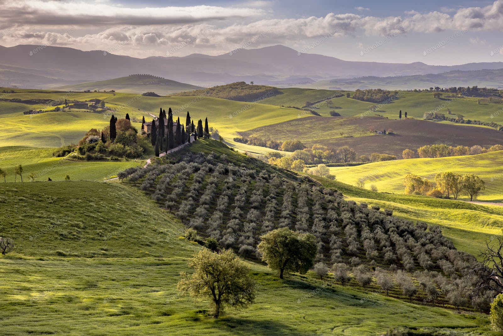
M 257 249 L 262 253 L 262 260 L 272 270 L 279 271 L 283 279 L 285 272 L 305 274 L 313 266 L 317 245 L 310 233 L 280 228 L 263 235 Z

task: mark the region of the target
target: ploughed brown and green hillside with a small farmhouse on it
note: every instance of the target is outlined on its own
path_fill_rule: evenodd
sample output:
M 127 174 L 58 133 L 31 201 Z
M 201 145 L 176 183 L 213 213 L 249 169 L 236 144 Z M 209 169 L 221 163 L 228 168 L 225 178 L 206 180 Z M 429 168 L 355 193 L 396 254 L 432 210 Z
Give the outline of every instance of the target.
M 393 134 L 378 135 L 369 131 L 393 130 Z M 392 120 L 382 117 L 318 117 L 288 120 L 239 132 L 244 137 L 285 141 L 292 136 L 306 146 L 322 144 L 331 148 L 349 146 L 358 155 L 388 153 L 401 155 L 408 148 L 417 150 L 424 145 L 480 145 L 489 148 L 503 144 L 503 132 L 489 127 L 440 124 L 426 120 Z

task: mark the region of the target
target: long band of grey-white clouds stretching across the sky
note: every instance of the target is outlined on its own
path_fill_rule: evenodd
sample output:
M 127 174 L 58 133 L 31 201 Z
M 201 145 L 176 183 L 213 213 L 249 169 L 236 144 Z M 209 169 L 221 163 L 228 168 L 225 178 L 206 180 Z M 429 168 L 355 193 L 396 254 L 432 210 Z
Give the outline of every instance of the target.
M 78 1 L 78 0 L 77 0 Z M 128 8 L 108 2 L 0 0 L 0 44 L 43 44 L 54 36 L 53 45 L 83 50 L 107 50 L 135 56 L 175 56 L 192 52 L 220 54 L 254 40 L 249 48 L 272 44 L 299 49 L 323 36 L 337 39 L 357 36 L 387 36 L 393 33 L 438 33 L 443 31 L 503 30 L 503 0 L 485 7 L 460 8 L 453 14 L 407 12 L 405 16 L 377 17 L 364 14 L 334 14 L 307 18 L 265 17 L 267 1 L 247 1 L 233 8 L 215 6 Z M 256 6 L 257 8 L 251 8 Z M 269 13 L 268 13 L 269 14 Z M 246 20 L 243 20 L 246 18 Z M 24 25 L 19 24 L 20 22 Z M 92 25 L 92 30 L 89 27 Z M 75 31 L 63 35 L 68 27 Z M 267 34 L 263 35 L 265 32 Z M 260 39 L 254 37 L 261 36 Z M 333 42 L 327 42 L 333 43 Z M 485 43 L 474 39 L 471 43 Z M 180 46 L 183 48 L 180 48 Z

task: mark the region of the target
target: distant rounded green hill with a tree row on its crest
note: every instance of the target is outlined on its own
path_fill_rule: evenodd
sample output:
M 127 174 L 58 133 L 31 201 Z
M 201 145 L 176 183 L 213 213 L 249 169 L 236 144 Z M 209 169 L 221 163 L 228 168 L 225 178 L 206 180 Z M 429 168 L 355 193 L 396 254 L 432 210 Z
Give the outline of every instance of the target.
M 176 92 L 199 90 L 202 88 L 196 85 L 180 83 L 177 81 L 172 81 L 164 78 L 156 78 L 149 75 L 135 75 L 135 76 L 114 78 L 107 81 L 65 85 L 55 89 L 61 91 L 115 90 L 130 93 L 143 93 L 150 91 L 155 92 L 156 94 L 161 96 L 167 96 L 169 94 Z

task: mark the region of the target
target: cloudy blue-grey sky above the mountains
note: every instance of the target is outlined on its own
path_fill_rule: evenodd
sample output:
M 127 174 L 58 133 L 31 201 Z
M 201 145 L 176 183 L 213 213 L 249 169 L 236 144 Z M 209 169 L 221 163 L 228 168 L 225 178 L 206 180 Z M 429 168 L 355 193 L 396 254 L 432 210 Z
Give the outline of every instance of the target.
M 0 45 L 133 57 L 218 55 L 282 44 L 345 60 L 503 61 L 503 0 L 0 0 Z

